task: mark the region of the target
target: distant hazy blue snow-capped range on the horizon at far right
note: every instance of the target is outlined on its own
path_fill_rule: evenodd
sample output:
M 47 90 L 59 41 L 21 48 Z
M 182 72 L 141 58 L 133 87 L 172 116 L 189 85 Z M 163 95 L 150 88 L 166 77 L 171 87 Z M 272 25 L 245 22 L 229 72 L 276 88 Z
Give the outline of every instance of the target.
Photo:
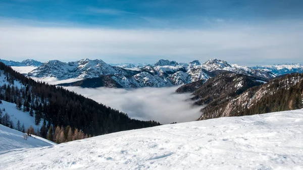
M 284 65 L 268 65 L 268 66 L 256 66 L 251 67 L 256 70 L 264 70 L 271 72 L 276 76 L 289 73 L 303 73 L 303 65 L 300 64 L 284 64 Z

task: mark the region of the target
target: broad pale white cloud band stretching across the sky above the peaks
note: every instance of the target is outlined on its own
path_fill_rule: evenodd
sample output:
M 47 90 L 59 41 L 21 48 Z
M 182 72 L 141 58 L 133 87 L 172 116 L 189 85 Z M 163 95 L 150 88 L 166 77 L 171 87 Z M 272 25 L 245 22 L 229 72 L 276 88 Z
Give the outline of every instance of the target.
M 26 26 L 0 21 L 0 58 L 40 61 L 90 58 L 108 63 L 219 58 L 245 65 L 301 63 L 302 27 L 303 23 L 291 21 L 204 29 L 104 29 Z

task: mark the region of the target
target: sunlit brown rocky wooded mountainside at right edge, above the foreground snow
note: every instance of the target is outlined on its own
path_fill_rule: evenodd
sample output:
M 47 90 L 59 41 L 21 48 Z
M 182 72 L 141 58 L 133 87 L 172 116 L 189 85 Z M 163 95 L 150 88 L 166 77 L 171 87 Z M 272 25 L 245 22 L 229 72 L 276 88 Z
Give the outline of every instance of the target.
M 199 120 L 299 109 L 303 105 L 302 93 L 303 74 L 287 75 L 249 88 L 238 96 L 230 97 L 225 102 L 223 100 L 223 102 L 203 108 L 203 115 Z M 198 91 L 194 94 L 198 94 Z M 205 97 L 205 94 L 199 97 L 202 96 Z

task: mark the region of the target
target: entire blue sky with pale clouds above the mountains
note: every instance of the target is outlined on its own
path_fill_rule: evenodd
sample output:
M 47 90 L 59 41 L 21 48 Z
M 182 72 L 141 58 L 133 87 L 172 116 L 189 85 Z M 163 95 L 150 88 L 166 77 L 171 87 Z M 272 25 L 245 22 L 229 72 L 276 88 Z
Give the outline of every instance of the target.
M 0 58 L 303 64 L 303 2 L 0 2 Z

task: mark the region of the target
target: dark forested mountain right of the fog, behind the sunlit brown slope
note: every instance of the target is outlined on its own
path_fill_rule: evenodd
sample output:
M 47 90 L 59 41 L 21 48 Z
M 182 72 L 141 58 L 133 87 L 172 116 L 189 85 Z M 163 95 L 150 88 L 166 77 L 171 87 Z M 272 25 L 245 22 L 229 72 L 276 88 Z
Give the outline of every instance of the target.
M 225 103 L 250 87 L 261 85 L 255 77 L 221 72 L 207 82 L 196 81 L 179 87 L 176 92 L 193 92 L 191 99 L 197 105 L 206 105 L 203 110 Z

